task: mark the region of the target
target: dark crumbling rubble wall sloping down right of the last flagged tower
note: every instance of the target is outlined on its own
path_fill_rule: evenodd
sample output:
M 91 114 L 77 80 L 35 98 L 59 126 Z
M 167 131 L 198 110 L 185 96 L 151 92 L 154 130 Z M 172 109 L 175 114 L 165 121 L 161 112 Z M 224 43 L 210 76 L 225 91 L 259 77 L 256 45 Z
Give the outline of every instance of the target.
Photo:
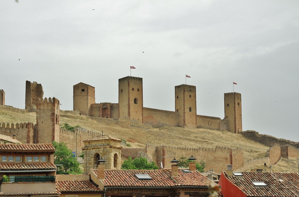
M 240 132 L 243 136 L 253 141 L 259 142 L 266 146 L 273 146 L 274 144 L 279 144 L 280 146 L 284 145 L 291 145 L 296 148 L 299 148 L 299 142 L 294 142 L 286 139 L 280 139 L 269 135 L 259 134 L 256 131 L 241 131 Z

